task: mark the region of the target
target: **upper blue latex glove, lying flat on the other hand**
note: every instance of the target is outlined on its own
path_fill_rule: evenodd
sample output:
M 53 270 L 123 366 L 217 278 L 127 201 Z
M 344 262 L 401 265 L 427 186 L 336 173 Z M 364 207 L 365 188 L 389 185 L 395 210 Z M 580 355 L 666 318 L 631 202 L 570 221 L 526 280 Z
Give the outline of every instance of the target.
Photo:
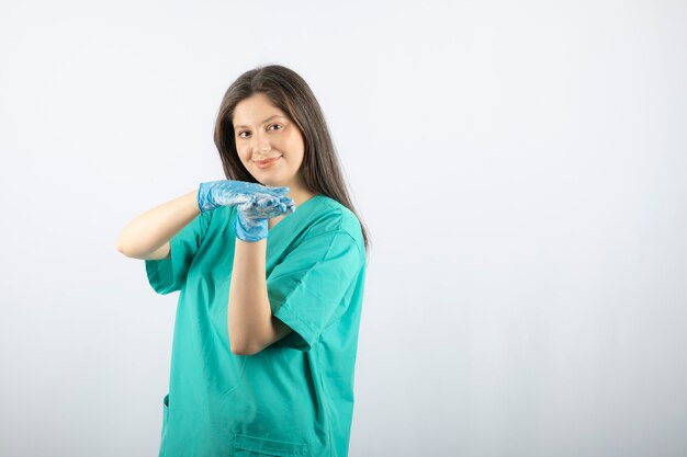
M 201 213 L 218 206 L 236 206 L 254 199 L 255 194 L 280 197 L 289 193 L 289 187 L 269 187 L 245 181 L 219 180 L 201 183 L 198 190 L 198 207 Z

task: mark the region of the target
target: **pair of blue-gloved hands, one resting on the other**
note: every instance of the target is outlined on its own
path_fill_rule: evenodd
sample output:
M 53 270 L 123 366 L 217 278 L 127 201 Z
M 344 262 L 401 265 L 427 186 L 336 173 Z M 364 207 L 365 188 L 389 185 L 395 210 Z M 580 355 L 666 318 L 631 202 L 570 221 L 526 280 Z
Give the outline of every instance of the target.
M 286 194 L 290 188 L 270 187 L 258 183 L 221 180 L 201 183 L 198 206 L 201 213 L 217 206 L 235 206 L 236 238 L 260 241 L 268 237 L 269 219 L 295 212 L 295 203 Z

